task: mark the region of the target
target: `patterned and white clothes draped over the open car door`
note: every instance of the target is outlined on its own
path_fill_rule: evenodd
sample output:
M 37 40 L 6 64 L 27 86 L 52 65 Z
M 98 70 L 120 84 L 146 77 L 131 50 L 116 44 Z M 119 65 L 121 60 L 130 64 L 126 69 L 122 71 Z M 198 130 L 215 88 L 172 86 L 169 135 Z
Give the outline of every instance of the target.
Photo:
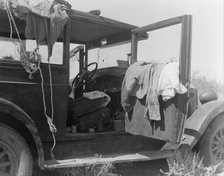
M 136 99 L 145 99 L 144 117 L 160 121 L 158 96 L 167 101 L 176 93 L 187 92 L 179 82 L 179 63 L 136 62 L 131 65 L 122 83 L 121 103 L 126 112 L 133 111 Z

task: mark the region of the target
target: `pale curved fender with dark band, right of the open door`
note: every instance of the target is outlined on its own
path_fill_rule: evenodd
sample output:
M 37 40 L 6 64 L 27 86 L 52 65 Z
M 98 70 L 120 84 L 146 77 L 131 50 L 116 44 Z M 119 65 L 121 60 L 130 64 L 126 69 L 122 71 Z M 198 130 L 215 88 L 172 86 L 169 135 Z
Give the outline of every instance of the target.
M 224 101 L 215 100 L 200 106 L 190 118 L 186 120 L 182 144 L 193 148 L 201 138 L 208 125 L 224 112 Z

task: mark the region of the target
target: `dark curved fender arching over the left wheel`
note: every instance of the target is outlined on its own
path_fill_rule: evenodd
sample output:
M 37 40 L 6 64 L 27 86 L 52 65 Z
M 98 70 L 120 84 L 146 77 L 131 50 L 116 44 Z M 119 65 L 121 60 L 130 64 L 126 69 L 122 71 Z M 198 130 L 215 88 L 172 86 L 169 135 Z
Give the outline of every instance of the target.
M 42 142 L 39 136 L 37 126 L 34 123 L 34 121 L 19 106 L 3 98 L 0 98 L 0 112 L 4 114 L 8 114 L 11 117 L 17 119 L 23 125 L 25 125 L 26 128 L 30 131 L 37 148 L 39 166 L 43 168 L 43 163 L 44 163 L 43 146 L 42 146 Z

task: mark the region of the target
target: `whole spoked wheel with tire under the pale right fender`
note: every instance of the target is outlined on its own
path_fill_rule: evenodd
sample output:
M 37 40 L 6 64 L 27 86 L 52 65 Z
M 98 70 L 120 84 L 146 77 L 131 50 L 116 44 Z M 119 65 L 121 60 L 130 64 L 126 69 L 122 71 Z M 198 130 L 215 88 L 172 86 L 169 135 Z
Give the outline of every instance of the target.
M 215 165 L 224 161 L 224 114 L 217 116 L 208 126 L 199 141 L 199 152 L 204 165 Z

